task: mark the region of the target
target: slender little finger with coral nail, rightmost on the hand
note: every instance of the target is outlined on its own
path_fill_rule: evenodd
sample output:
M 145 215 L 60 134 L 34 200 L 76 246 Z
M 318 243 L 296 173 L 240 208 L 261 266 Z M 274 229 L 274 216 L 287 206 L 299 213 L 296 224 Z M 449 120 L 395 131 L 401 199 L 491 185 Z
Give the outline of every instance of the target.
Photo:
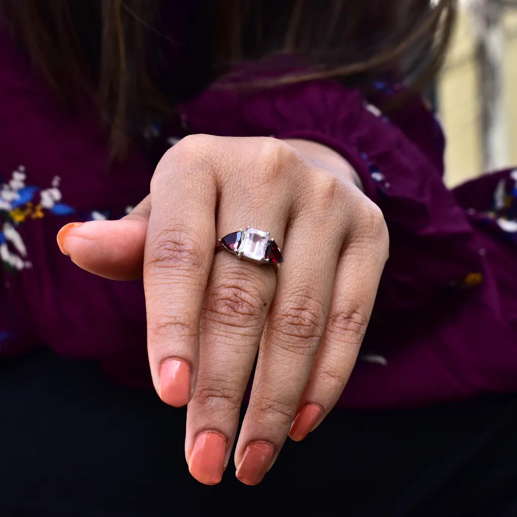
M 367 218 L 368 219 L 368 218 Z M 351 236 L 339 262 L 325 333 L 290 437 L 302 440 L 338 401 L 354 368 L 387 260 L 388 234 L 376 211 Z

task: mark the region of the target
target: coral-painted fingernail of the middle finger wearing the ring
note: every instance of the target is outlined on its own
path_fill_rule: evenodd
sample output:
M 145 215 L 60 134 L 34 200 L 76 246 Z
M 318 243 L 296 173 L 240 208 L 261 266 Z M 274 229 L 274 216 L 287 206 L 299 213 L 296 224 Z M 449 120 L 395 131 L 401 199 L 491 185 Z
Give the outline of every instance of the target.
M 189 472 L 204 484 L 217 484 L 223 477 L 226 439 L 220 434 L 200 434 L 194 443 L 189 460 Z

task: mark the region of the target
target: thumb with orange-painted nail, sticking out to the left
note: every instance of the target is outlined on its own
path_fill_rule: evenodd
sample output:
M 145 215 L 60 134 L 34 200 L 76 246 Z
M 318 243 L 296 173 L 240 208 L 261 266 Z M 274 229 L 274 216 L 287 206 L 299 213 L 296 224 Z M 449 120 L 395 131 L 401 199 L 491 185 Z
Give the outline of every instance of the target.
M 59 249 L 79 267 L 112 280 L 142 277 L 150 195 L 118 221 L 70 223 L 57 234 Z

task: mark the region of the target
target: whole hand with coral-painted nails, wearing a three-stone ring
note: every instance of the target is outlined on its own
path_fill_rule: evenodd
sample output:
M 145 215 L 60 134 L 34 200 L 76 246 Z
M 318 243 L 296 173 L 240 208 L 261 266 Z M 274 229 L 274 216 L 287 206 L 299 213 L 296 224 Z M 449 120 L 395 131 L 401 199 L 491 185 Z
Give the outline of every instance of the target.
M 214 253 L 246 225 L 278 242 L 278 272 Z M 300 440 L 329 413 L 388 255 L 381 211 L 351 181 L 279 140 L 207 135 L 163 156 L 131 215 L 67 225 L 59 240 L 99 275 L 143 272 L 154 385 L 164 402 L 189 404 L 185 454 L 207 484 L 229 461 L 257 350 L 235 452 L 242 482 L 260 482 L 287 434 Z

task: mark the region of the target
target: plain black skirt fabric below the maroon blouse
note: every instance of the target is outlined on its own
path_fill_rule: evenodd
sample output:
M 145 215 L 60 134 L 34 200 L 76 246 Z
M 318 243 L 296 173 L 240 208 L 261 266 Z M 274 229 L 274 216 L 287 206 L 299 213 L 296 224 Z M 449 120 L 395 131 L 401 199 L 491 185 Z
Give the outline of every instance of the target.
M 0 516 L 517 516 L 517 394 L 413 410 L 334 410 L 257 486 L 195 481 L 185 410 L 94 363 L 0 363 Z

